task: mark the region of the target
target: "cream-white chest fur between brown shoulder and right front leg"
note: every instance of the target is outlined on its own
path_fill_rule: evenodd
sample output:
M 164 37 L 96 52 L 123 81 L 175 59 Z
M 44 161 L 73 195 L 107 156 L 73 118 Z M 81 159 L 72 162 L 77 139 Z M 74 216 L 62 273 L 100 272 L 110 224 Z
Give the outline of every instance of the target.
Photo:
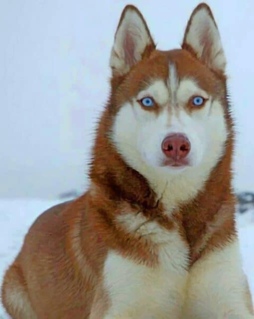
M 111 251 L 104 267 L 104 287 L 114 318 L 179 318 L 184 300 L 188 267 L 188 247 L 176 230 L 156 234 L 159 265 L 146 267 Z M 157 227 L 157 226 L 156 226 Z M 146 227 L 147 230 L 147 227 Z M 141 230 L 140 230 L 141 231 Z M 107 318 L 107 317 L 106 317 Z

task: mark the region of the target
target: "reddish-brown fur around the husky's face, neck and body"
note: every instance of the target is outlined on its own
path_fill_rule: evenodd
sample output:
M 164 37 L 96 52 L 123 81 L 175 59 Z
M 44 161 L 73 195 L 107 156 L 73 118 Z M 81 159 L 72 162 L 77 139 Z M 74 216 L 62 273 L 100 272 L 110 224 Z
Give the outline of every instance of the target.
M 220 98 L 230 131 L 225 153 L 203 191 L 171 218 L 164 214 L 165 208 L 147 180 L 126 164 L 110 139 L 113 119 L 121 105 L 150 79 L 166 80 L 169 61 L 175 63 L 180 78 L 192 76 L 201 88 Z M 2 302 L 14 319 L 102 318 L 110 306 L 102 286 L 103 265 L 110 249 L 141 260 L 148 267 L 158 263 L 155 244 L 127 233 L 117 223 L 117 216 L 124 212 L 141 212 L 168 230 L 177 224 L 190 247 L 190 267 L 202 254 L 236 235 L 231 189 L 234 134 L 225 75 L 209 70 L 187 47 L 164 52 L 151 45 L 130 72 L 124 76 L 114 73 L 111 83 L 111 96 L 93 149 L 91 187 L 77 200 L 53 207 L 35 221 L 5 274 Z M 23 292 L 29 300 L 30 317 L 24 317 L 25 310 L 9 302 L 8 290 Z

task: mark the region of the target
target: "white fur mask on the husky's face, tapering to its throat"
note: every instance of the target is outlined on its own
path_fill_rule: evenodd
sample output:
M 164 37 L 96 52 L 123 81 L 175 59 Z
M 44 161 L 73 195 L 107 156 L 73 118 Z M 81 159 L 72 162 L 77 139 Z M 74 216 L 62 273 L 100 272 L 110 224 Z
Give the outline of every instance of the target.
M 112 134 L 124 159 L 148 180 L 168 212 L 202 189 L 223 154 L 227 138 L 222 105 L 213 101 L 195 80 L 184 78 L 180 81 L 175 92 L 177 110 L 171 107 L 170 90 L 162 80 L 156 79 L 145 93 L 159 104 L 157 96 L 162 92 L 161 98 L 167 102 L 160 105 L 159 115 L 142 109 L 135 97 L 132 104 L 127 102 L 116 115 Z M 203 108 L 189 113 L 184 106 L 194 94 L 209 100 Z M 185 169 L 161 167 L 165 156 L 161 143 L 168 134 L 175 132 L 185 133 L 191 142 L 188 154 L 191 166 Z

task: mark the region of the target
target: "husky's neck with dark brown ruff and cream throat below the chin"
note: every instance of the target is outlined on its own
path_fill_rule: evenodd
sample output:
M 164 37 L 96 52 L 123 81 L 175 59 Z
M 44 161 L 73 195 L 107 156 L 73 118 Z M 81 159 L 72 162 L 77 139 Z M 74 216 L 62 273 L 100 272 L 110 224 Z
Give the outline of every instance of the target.
M 222 232 L 217 236 L 220 243 L 234 236 L 233 133 L 228 137 L 224 154 L 210 171 L 202 172 L 201 167 L 168 177 L 156 176 L 151 170 L 144 176 L 127 165 L 117 152 L 108 134 L 111 125 L 112 117 L 106 109 L 97 131 L 90 170 L 91 183 L 100 189 L 96 196 L 101 201 L 114 202 L 112 207 L 127 202 L 149 219 L 177 222 L 191 247 L 193 260 L 211 241 L 214 232 Z M 114 220 L 114 214 L 120 214 L 119 209 L 115 213 L 109 211 L 108 218 Z

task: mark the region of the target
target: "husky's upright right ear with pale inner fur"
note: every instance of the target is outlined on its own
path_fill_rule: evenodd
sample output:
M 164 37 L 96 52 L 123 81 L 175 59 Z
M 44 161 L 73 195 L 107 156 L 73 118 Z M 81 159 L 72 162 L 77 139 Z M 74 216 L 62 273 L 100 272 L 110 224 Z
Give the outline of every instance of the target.
M 206 3 L 200 3 L 188 21 L 182 48 L 190 51 L 209 68 L 224 72 L 226 58 L 221 37 L 212 11 Z

